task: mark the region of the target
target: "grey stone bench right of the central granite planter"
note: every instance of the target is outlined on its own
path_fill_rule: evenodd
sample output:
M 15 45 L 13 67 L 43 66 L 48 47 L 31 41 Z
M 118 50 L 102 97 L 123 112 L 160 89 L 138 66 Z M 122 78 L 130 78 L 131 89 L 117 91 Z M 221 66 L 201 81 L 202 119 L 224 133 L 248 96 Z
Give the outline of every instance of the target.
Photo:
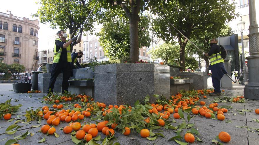
M 194 79 L 170 79 L 170 95 L 175 95 L 180 90 L 189 91 L 191 83 L 194 83 Z

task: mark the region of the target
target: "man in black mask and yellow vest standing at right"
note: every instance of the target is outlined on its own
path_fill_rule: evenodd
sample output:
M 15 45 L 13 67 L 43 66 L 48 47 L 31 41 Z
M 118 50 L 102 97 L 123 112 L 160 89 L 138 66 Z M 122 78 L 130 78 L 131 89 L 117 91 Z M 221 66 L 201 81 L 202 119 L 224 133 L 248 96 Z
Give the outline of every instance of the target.
M 211 71 L 211 79 L 214 87 L 214 92 L 210 93 L 211 96 L 220 96 L 220 80 L 228 72 L 224 67 L 224 59 L 221 58 L 221 47 L 218 45 L 218 39 L 214 38 L 210 40 L 210 51 L 205 53 L 205 56 L 210 57 L 209 70 Z

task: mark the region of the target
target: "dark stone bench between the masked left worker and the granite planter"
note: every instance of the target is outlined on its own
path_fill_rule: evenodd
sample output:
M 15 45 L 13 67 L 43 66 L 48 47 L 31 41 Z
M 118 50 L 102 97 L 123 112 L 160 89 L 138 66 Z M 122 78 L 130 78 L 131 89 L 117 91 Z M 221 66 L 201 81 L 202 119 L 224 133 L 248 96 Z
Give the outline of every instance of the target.
M 86 94 L 94 98 L 94 80 L 69 80 L 68 91 L 72 94 Z M 59 86 L 61 92 L 62 81 L 56 81 L 55 86 Z

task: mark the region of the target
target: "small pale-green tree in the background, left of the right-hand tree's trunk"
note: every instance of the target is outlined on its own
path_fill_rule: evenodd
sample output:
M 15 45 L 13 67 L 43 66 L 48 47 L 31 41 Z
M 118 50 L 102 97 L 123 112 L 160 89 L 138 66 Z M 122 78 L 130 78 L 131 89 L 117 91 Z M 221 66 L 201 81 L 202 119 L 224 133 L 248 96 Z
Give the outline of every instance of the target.
M 151 55 L 152 59 L 162 59 L 165 65 L 167 65 L 168 62 L 177 63 L 179 59 L 179 47 L 177 45 L 164 43 L 158 45 L 154 50 L 150 50 L 148 54 Z

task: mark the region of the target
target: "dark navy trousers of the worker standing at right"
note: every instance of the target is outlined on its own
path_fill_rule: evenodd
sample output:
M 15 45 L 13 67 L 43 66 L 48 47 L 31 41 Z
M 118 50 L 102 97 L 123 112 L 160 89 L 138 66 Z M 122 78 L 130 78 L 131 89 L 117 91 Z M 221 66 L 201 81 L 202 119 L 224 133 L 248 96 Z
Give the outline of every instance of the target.
M 224 63 L 216 63 L 209 66 L 209 70 L 211 70 L 211 79 L 213 87 L 215 88 L 214 91 L 216 93 L 220 93 L 220 80 L 224 76 L 224 74 L 227 74 L 228 72 L 225 70 Z

